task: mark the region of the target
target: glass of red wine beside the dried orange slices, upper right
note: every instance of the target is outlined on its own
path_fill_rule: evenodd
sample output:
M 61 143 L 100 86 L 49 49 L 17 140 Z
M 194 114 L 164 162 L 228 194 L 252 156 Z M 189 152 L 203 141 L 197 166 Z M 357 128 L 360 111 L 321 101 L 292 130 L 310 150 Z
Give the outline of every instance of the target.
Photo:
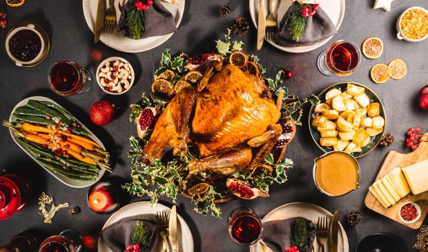
M 318 56 L 318 69 L 327 76 L 347 76 L 357 70 L 360 64 L 360 48 L 344 40 L 333 42 Z

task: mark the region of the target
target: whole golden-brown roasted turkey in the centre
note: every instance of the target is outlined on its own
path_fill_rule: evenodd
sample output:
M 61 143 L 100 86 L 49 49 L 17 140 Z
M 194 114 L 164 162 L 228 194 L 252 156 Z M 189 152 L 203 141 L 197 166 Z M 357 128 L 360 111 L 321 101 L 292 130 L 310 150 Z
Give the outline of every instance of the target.
M 184 156 L 195 145 L 201 158 L 191 160 L 189 174 L 211 171 L 222 178 L 251 171 L 271 151 L 282 127 L 269 87 L 235 65 L 217 69 L 206 70 L 204 87 L 184 87 L 168 103 L 142 153 L 146 162 L 171 150 Z

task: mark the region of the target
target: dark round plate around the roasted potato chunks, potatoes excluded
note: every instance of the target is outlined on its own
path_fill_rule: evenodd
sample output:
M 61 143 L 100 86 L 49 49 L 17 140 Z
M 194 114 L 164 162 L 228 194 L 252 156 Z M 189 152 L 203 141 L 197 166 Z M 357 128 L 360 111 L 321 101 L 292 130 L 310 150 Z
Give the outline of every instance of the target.
M 322 90 L 322 92 L 320 94 L 318 94 L 320 101 L 324 102 L 325 101 L 325 94 L 327 94 L 327 92 L 329 92 L 329 90 L 331 90 L 333 88 L 338 89 L 341 92 L 344 92 L 344 90 L 347 90 L 348 83 L 351 83 L 353 85 L 357 85 L 360 87 L 364 87 L 364 89 L 365 89 L 364 93 L 367 96 L 369 96 L 370 103 L 379 103 L 380 104 L 380 116 L 385 118 L 385 126 L 383 127 L 382 133 L 380 133 L 376 136 L 370 136 L 370 143 L 366 147 L 361 148 L 362 152 L 353 152 L 352 153 L 352 156 L 354 156 L 355 158 L 360 158 L 360 157 L 368 154 L 371 150 L 373 150 L 374 148 L 376 148 L 376 146 L 378 146 L 378 144 L 380 143 L 380 138 L 382 138 L 383 132 L 385 132 L 385 127 L 387 125 L 387 118 L 386 118 L 386 114 L 385 114 L 385 108 L 383 107 L 383 104 L 382 104 L 382 101 L 380 101 L 380 98 L 373 91 L 371 91 L 368 87 L 361 85 L 359 83 L 342 82 L 342 83 L 333 84 L 330 87 L 327 87 L 325 90 Z M 318 132 L 316 127 L 311 126 L 312 119 L 315 116 L 319 115 L 319 114 L 313 113 L 314 109 L 315 109 L 315 105 L 312 105 L 311 111 L 309 112 L 309 132 L 311 132 L 311 136 L 313 138 L 313 141 L 316 143 L 316 145 L 318 145 L 318 147 L 320 147 L 320 149 L 322 149 L 322 151 L 324 151 L 324 152 L 333 151 L 334 149 L 332 146 L 321 146 L 320 145 L 321 134 L 320 134 L 320 132 Z

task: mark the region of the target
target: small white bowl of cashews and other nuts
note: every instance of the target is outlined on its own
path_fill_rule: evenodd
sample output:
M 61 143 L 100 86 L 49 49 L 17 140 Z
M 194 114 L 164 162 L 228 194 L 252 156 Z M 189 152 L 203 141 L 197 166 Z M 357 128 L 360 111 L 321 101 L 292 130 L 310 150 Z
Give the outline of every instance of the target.
M 107 94 L 124 94 L 132 87 L 135 73 L 130 63 L 120 57 L 105 59 L 97 68 L 97 83 Z

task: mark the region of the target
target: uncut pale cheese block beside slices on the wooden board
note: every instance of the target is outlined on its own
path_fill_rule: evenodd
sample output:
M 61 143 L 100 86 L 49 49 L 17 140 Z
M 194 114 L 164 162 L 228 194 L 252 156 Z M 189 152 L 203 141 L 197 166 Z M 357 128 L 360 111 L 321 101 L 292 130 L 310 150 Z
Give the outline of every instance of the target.
M 413 194 L 428 191 L 428 160 L 402 169 Z

